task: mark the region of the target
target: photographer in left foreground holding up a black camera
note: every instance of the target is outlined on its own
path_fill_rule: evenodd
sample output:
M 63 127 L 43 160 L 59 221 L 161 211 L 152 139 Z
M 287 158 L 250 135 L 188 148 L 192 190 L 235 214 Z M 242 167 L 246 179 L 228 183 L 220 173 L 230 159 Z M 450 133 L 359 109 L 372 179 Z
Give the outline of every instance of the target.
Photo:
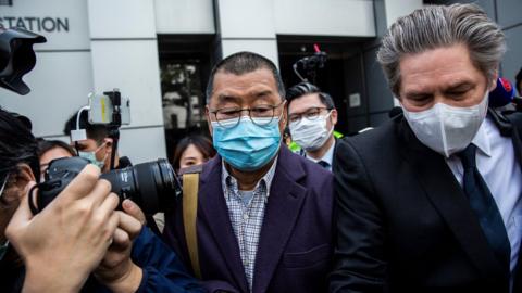
M 127 200 L 125 213 L 114 211 L 119 198 L 99 175 L 88 165 L 33 215 L 27 194 L 39 181 L 37 142 L 0 110 L 2 292 L 199 292 L 177 257 L 141 229 L 136 204 Z

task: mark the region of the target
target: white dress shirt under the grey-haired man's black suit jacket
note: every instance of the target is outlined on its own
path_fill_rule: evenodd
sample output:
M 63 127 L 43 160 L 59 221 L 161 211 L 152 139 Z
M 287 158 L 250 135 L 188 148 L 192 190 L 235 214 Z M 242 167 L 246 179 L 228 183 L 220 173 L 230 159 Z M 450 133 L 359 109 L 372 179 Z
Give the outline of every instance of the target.
M 522 238 L 522 174 L 510 137 L 500 136 L 495 123 L 486 118 L 472 143 L 476 145 L 476 167 L 486 181 L 506 226 L 511 244 L 511 273 L 519 257 Z M 446 160 L 462 186 L 463 167 L 457 155 Z M 511 285 L 512 285 L 511 278 Z

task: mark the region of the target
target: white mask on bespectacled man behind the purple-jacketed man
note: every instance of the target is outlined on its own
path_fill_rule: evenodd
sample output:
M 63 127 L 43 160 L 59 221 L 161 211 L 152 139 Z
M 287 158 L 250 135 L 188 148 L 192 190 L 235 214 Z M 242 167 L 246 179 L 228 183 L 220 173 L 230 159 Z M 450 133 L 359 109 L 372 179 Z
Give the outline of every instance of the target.
M 332 111 L 314 120 L 302 117 L 298 122 L 290 123 L 288 127 L 290 128 L 291 140 L 308 152 L 320 149 L 334 131 L 334 127 L 328 130 L 326 126 L 331 114 Z

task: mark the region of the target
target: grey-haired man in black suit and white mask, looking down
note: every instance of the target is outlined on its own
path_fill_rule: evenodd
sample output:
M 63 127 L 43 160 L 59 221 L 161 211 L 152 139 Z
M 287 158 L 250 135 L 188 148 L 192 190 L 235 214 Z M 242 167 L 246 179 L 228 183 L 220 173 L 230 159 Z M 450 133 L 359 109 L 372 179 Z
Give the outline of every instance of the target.
M 520 129 L 487 109 L 505 50 L 471 4 L 390 27 L 377 59 L 403 115 L 337 148 L 331 291 L 522 292 Z

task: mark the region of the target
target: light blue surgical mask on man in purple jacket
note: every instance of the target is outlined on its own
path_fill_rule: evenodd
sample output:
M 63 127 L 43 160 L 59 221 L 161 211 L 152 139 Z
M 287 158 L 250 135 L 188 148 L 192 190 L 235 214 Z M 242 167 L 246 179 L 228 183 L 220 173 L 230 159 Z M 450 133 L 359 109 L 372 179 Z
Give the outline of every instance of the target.
M 240 118 L 239 123 L 212 122 L 212 140 L 214 148 L 223 160 L 234 168 L 243 171 L 253 171 L 266 165 L 275 157 L 281 145 L 279 118 L 270 118 L 264 125 L 263 119 L 249 116 Z M 236 124 L 226 127 L 227 124 Z

